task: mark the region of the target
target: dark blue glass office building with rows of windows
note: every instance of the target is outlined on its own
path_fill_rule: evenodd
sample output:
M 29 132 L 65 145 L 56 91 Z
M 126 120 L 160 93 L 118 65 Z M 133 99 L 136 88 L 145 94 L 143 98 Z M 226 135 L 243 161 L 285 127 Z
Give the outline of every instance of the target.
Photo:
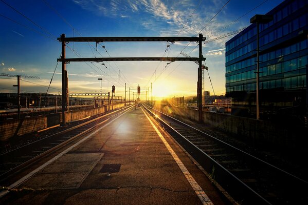
M 301 118 L 306 106 L 308 0 L 286 0 L 259 25 L 260 118 Z M 226 43 L 226 96 L 232 115 L 256 118 L 257 26 Z M 301 116 L 299 116 L 301 115 Z

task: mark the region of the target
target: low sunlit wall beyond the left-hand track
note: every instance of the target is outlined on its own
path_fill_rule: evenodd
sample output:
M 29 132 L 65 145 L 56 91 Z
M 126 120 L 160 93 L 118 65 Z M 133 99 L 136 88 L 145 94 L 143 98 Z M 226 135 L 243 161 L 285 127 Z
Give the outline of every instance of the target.
M 114 109 L 123 107 L 124 104 L 114 105 Z M 73 110 L 66 112 L 66 122 L 76 121 L 88 116 L 94 116 L 108 111 L 108 107 Z M 51 126 L 59 125 L 62 122 L 62 113 L 48 114 L 23 119 L 9 119 L 0 122 L 0 141 L 7 141 L 11 137 L 21 136 L 28 133 L 37 132 Z

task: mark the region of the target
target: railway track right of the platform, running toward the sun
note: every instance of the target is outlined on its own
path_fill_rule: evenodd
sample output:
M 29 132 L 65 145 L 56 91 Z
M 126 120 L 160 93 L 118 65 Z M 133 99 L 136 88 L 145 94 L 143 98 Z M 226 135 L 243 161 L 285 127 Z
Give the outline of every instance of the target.
M 307 181 L 143 106 L 239 204 L 306 204 Z

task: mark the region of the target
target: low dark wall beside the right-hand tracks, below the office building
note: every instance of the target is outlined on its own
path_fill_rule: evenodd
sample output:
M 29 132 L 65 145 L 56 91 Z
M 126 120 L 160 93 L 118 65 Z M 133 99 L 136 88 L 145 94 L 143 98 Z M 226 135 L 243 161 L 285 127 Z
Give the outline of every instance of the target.
M 155 105 L 155 109 L 171 116 L 198 121 L 197 110 L 164 105 Z M 307 128 L 299 126 L 211 112 L 203 112 L 203 122 L 257 146 L 305 149 L 304 145 L 308 142 Z

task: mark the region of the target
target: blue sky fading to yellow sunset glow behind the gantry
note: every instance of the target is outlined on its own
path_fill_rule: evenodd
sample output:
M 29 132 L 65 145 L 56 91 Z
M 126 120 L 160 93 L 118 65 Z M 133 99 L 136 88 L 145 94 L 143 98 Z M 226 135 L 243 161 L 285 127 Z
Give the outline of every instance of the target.
M 249 26 L 252 16 L 265 14 L 281 2 L 0 0 L 0 72 L 40 77 L 22 78 L 22 93 L 61 93 L 62 68 L 57 62 L 61 43 L 57 38 L 62 33 L 66 37 L 190 37 L 202 33 L 209 40 Z M 211 94 L 225 94 L 225 43 L 231 37 L 202 45 L 203 64 L 209 68 L 204 90 Z M 66 57 L 184 57 L 181 51 L 198 57 L 197 46 L 195 42 L 69 42 Z M 124 96 L 125 83 L 126 91 L 138 85 L 149 88 L 152 83 L 157 98 L 191 96 L 196 95 L 197 68 L 193 61 L 71 62 L 67 65 L 68 89 L 71 93 L 99 93 L 100 89 L 107 93 L 114 85 L 116 96 Z M 16 77 L 0 76 L 0 92 L 16 92 L 16 81 Z

